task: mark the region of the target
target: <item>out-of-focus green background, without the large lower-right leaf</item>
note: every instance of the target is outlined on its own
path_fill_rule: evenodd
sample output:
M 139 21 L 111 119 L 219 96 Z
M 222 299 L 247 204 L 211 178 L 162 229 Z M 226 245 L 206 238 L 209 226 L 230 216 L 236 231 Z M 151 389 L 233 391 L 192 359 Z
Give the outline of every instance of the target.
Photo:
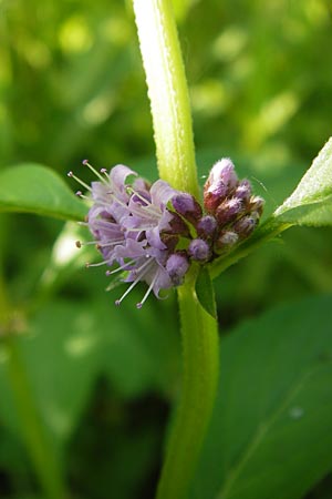
M 173 3 L 201 182 L 230 156 L 271 211 L 331 135 L 331 1 Z M 81 166 L 89 157 L 157 177 L 129 1 L 0 0 L 0 169 L 41 163 L 91 181 Z M 77 253 L 73 241 L 89 237 L 80 231 L 1 214 L 2 308 L 24 333 L 27 377 L 72 492 L 153 497 L 179 390 L 175 296 L 137 313 L 141 287 L 115 310 L 118 291 L 106 294 L 103 272 L 83 268 L 97 255 Z M 280 302 L 331 291 L 331 230 L 297 228 L 283 242 L 217 279 L 221 334 Z M 7 361 L 0 346 L 0 497 L 38 498 Z M 329 480 L 319 487 L 308 497 L 331 497 Z

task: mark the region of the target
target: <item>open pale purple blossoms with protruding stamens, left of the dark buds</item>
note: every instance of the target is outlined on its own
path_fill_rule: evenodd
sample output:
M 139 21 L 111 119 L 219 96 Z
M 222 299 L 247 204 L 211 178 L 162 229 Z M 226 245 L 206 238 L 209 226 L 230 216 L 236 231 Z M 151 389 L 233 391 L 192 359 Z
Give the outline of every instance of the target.
M 138 282 L 147 283 L 148 289 L 137 304 L 141 308 L 151 292 L 159 297 L 162 289 L 181 283 L 189 268 L 184 256 L 173 254 L 176 242 L 169 243 L 175 214 L 167 205 L 178 191 L 162 180 L 149 185 L 124 165 L 114 166 L 110 173 L 103 170 L 102 175 L 94 173 L 98 181 L 90 189 L 93 204 L 87 226 L 104 259 L 93 265 L 116 263 L 117 267 L 107 271 L 107 275 L 126 272 L 124 282 L 132 284 L 116 304 Z M 133 183 L 128 182 L 129 176 L 136 177 Z

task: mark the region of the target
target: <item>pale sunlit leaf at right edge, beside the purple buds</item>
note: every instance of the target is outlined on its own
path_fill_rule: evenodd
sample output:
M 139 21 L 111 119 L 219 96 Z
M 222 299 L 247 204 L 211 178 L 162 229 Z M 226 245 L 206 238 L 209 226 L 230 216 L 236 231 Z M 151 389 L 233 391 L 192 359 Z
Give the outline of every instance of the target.
M 274 216 L 291 224 L 332 225 L 332 138 Z

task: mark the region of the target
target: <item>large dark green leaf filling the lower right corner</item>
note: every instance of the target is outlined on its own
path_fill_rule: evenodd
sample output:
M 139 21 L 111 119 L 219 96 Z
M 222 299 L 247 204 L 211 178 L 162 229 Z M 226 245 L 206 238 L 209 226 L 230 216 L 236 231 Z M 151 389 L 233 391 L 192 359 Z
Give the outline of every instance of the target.
M 280 306 L 221 342 L 193 499 L 300 499 L 332 469 L 331 303 Z

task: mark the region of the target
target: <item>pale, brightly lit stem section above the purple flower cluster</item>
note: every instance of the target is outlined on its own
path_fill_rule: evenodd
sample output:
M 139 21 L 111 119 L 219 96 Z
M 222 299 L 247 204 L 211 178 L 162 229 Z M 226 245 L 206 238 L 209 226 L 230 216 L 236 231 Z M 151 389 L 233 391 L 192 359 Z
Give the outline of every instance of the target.
M 198 197 L 191 114 L 169 0 L 133 0 L 160 179 Z

